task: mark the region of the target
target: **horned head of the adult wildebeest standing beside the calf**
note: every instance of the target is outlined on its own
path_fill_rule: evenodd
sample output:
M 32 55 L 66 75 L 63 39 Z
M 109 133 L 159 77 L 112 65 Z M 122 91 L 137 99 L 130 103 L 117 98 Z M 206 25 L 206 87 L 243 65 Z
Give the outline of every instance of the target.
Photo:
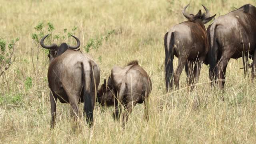
M 68 45 L 66 43 L 62 43 L 62 44 L 60 44 L 60 46 L 57 46 L 57 44 L 52 44 L 50 46 L 46 46 L 44 44 L 44 39 L 47 36 L 49 36 L 49 34 L 47 34 L 46 36 L 44 36 L 41 39 L 40 44 L 41 44 L 41 46 L 43 48 L 50 49 L 49 54 L 48 54 L 48 57 L 50 58 L 50 62 L 52 62 L 52 60 L 54 58 L 56 58 L 57 56 L 59 56 L 60 54 L 64 53 L 68 48 L 70 48 L 70 49 L 77 49 L 80 46 L 80 40 L 78 38 L 76 38 L 75 36 L 73 36 L 73 35 L 71 35 L 71 36 L 76 39 L 76 42 L 77 42 L 76 46 L 70 46 L 70 45 Z

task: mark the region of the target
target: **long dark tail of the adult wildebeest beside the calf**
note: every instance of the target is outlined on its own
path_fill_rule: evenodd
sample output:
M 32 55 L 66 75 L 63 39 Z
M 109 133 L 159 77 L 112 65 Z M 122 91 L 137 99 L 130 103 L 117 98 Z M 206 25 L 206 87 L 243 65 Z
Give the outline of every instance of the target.
M 93 74 L 92 74 L 92 65 L 89 62 L 90 70 L 86 70 L 84 68 L 84 64 L 82 63 L 82 84 L 84 88 L 84 113 L 87 117 L 87 122 L 91 125 L 93 122 L 93 107 L 92 107 L 92 86 L 93 84 Z

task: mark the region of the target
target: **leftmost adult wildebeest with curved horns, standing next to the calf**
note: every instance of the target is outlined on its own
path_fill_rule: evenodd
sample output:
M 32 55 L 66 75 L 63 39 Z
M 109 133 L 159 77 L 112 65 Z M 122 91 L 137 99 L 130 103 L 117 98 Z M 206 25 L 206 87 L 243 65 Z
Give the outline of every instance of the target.
M 49 34 L 48 34 L 49 35 Z M 93 122 L 93 110 L 95 103 L 95 92 L 100 83 L 100 68 L 88 54 L 82 54 L 79 48 L 80 40 L 72 36 L 77 41 L 77 46 L 69 46 L 62 43 L 60 46 L 52 44 L 46 46 L 44 36 L 40 41 L 43 48 L 50 49 L 50 66 L 48 68 L 48 82 L 52 93 L 51 101 L 51 128 L 54 128 L 56 116 L 56 101 L 70 103 L 74 118 L 78 116 L 78 103 L 84 102 L 84 113 L 90 124 Z

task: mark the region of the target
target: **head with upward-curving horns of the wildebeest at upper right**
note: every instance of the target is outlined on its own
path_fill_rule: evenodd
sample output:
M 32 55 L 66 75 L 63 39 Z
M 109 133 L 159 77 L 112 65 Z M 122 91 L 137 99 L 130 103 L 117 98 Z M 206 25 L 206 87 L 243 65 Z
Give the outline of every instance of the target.
M 202 14 L 201 10 L 199 10 L 199 12 L 196 15 L 186 14 L 186 9 L 187 9 L 188 6 L 189 6 L 189 4 L 183 8 L 182 14 L 190 22 L 196 22 L 196 21 L 200 20 L 200 21 L 202 21 L 203 24 L 206 24 L 207 22 L 212 20 L 212 18 L 214 18 L 214 16 L 216 16 L 216 14 L 214 16 L 210 16 L 209 10 L 204 5 L 202 5 L 202 6 L 204 7 L 204 10 L 206 11 L 206 13 Z

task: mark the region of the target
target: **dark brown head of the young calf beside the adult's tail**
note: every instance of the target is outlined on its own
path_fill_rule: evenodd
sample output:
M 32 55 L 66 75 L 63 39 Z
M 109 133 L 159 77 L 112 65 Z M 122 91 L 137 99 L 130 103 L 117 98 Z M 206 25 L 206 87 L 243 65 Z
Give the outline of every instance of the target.
M 101 85 L 97 94 L 97 101 L 102 105 L 112 106 L 114 105 L 114 97 L 115 97 L 115 88 L 112 83 L 112 79 L 108 77 L 108 84 L 106 79 L 104 79 L 104 83 Z

